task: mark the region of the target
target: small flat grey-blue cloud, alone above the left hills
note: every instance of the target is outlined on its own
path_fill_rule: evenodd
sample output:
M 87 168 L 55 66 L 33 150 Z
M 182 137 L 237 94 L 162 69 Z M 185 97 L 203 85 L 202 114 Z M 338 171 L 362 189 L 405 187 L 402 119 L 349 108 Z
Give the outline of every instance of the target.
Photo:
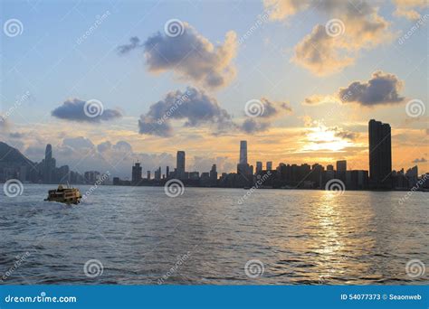
M 91 102 L 91 101 L 88 101 Z M 100 121 L 109 121 L 119 117 L 122 117 L 122 114 L 119 110 L 116 109 L 105 109 L 100 115 L 89 112 L 90 116 L 97 115 L 96 117 L 90 117 L 85 114 L 85 103 L 87 101 L 83 101 L 79 98 L 68 99 L 62 103 L 62 106 L 55 108 L 52 110 L 52 116 L 60 119 L 77 121 L 77 122 L 90 122 L 90 123 L 99 123 Z M 98 105 L 100 107 L 100 105 Z M 89 107 L 91 108 L 91 103 L 89 103 Z M 87 108 L 89 109 L 89 108 Z

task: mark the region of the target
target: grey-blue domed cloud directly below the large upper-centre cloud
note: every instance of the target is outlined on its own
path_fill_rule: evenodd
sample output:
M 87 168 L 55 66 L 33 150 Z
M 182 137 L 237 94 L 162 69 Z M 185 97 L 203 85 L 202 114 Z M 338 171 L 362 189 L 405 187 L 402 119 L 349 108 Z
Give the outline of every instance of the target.
M 153 104 L 138 120 L 139 133 L 153 136 L 173 136 L 172 120 L 185 119 L 185 126 L 214 125 L 218 131 L 234 126 L 231 116 L 215 98 L 205 91 L 187 87 L 168 92 L 166 98 Z

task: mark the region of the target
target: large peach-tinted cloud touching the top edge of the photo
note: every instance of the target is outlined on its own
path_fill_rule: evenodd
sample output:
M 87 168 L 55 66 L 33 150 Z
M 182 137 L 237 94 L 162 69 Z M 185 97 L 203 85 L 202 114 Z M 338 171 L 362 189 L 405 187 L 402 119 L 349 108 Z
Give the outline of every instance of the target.
M 324 76 L 352 65 L 362 49 L 371 49 L 391 38 L 389 23 L 377 14 L 377 8 L 362 0 L 266 0 L 272 20 L 282 20 L 300 11 L 317 10 L 327 16 L 327 24 L 317 24 L 296 46 L 292 61 Z M 335 21 L 335 22 L 333 22 Z M 339 22 L 338 22 L 339 21 Z M 339 35 L 329 33 L 338 30 Z M 331 34 L 331 35 L 329 35 Z

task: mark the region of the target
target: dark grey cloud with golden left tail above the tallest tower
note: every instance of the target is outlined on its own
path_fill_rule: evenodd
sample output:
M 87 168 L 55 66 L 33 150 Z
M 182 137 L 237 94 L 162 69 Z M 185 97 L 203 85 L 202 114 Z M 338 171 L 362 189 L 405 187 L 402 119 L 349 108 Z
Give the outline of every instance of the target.
M 330 102 L 358 103 L 362 106 L 372 107 L 384 104 L 399 104 L 405 97 L 400 95 L 403 82 L 395 74 L 376 71 L 367 81 L 353 81 L 346 88 L 338 89 L 331 96 L 314 95 L 305 98 L 303 104 L 318 105 Z

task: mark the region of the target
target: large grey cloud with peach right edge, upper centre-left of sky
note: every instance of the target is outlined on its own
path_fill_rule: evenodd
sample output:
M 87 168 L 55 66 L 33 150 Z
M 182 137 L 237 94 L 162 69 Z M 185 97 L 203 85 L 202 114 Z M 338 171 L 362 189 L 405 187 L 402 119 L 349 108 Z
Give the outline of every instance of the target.
M 228 85 L 236 75 L 232 63 L 237 50 L 236 33 L 226 33 L 224 43 L 214 46 L 188 23 L 183 23 L 183 27 L 181 35 L 171 37 L 158 32 L 143 44 L 139 44 L 138 38 L 131 38 L 129 45 L 119 46 L 119 52 L 141 47 L 148 70 L 153 73 L 171 70 L 179 79 L 209 89 Z

